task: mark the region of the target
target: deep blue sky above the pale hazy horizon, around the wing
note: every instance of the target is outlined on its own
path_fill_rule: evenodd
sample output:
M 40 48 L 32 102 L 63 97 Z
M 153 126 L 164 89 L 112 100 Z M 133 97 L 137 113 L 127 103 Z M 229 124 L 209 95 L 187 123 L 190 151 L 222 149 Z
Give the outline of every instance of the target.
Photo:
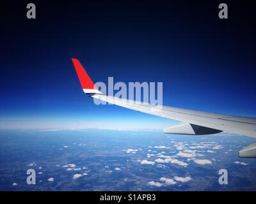
M 2 122 L 163 122 L 94 105 L 81 89 L 72 57 L 94 82 L 163 82 L 167 106 L 256 117 L 250 1 L 243 8 L 226 1 L 226 20 L 218 18 L 219 1 L 33 1 L 35 20 L 26 18 L 27 3 L 1 12 Z

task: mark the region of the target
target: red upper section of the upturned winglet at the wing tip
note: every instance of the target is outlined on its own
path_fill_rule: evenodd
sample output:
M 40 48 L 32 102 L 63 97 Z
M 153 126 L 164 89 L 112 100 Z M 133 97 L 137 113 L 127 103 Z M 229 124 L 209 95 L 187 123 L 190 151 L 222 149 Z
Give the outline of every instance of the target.
M 72 62 L 76 68 L 76 73 L 83 89 L 95 89 L 94 84 L 89 75 L 84 70 L 78 59 L 72 58 Z

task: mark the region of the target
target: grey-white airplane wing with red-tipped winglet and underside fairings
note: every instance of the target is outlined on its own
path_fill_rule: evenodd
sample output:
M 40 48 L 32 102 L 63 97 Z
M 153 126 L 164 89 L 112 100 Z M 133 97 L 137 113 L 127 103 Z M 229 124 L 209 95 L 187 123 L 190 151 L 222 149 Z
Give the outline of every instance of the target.
M 256 138 L 255 118 L 207 113 L 170 106 L 150 105 L 148 103 L 141 103 L 140 101 L 121 99 L 102 94 L 102 92 L 95 87 L 81 63 L 74 58 L 72 58 L 72 61 L 76 68 L 77 76 L 83 91 L 88 94 L 88 96 L 138 112 L 181 121 L 179 124 L 164 128 L 164 133 L 178 135 L 210 135 L 225 131 Z M 239 152 L 239 156 L 256 157 L 256 143 L 253 143 L 246 148 Z

